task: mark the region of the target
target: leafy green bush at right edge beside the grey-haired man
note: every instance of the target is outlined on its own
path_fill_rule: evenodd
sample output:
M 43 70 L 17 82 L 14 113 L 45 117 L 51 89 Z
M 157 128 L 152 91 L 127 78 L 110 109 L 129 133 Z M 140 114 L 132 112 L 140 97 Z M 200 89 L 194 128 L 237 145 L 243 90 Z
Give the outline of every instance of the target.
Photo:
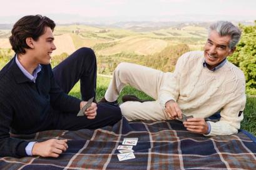
M 246 92 L 256 95 L 256 21 L 254 26 L 239 25 L 242 37 L 234 54 L 228 60 L 245 74 Z

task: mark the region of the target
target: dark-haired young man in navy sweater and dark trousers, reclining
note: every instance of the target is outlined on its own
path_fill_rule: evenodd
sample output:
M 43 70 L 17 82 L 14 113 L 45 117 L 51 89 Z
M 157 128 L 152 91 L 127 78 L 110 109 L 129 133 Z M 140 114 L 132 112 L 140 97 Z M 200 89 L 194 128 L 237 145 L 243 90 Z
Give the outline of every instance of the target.
M 0 72 L 0 156 L 58 157 L 67 140 L 41 143 L 11 138 L 44 130 L 79 130 L 113 125 L 121 119 L 116 105 L 92 103 L 76 116 L 96 90 L 96 57 L 81 48 L 53 70 L 49 64 L 54 45 L 54 22 L 48 17 L 25 16 L 9 38 L 16 55 Z M 84 101 L 68 95 L 80 80 Z

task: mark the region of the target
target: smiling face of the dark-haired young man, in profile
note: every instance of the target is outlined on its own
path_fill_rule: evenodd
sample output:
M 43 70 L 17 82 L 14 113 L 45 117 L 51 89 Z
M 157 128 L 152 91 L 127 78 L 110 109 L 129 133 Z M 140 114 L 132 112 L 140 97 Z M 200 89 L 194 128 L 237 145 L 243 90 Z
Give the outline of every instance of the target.
M 45 32 L 38 40 L 33 40 L 33 60 L 37 64 L 49 64 L 51 62 L 51 53 L 56 49 L 53 43 L 53 31 L 50 27 L 45 28 Z

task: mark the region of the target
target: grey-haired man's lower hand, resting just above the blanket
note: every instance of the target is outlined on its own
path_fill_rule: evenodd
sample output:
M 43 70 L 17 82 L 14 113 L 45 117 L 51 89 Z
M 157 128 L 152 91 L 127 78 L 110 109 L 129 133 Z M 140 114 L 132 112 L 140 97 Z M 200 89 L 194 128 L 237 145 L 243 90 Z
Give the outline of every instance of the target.
M 208 132 L 208 124 L 205 122 L 204 118 L 189 118 L 187 121 L 183 122 L 183 125 L 188 131 L 195 133 L 207 134 Z

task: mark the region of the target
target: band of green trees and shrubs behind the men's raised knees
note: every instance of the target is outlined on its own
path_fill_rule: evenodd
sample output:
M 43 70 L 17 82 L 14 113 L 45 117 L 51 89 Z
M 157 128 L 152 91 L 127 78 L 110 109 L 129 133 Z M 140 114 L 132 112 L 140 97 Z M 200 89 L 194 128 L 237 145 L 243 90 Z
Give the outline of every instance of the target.
M 172 72 L 175 68 L 178 57 L 189 50 L 188 45 L 179 44 L 168 46 L 161 52 L 152 55 L 138 55 L 135 52 L 120 52 L 113 55 L 97 55 L 99 68 L 98 73 L 112 74 L 120 62 L 130 62 L 145 65 L 164 72 Z

